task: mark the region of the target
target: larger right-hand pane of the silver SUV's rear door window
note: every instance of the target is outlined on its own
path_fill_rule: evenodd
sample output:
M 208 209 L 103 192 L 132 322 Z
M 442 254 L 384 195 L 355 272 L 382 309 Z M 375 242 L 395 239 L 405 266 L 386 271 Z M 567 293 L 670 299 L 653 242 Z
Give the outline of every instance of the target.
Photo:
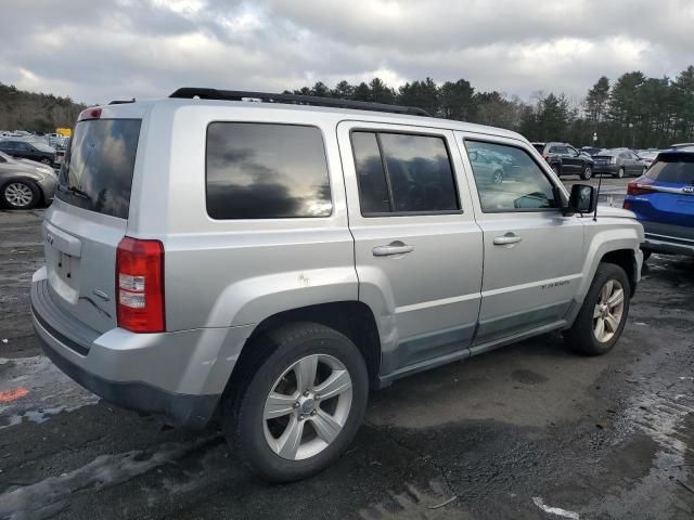
M 380 133 L 393 210 L 452 211 L 460 208 L 444 138 Z

